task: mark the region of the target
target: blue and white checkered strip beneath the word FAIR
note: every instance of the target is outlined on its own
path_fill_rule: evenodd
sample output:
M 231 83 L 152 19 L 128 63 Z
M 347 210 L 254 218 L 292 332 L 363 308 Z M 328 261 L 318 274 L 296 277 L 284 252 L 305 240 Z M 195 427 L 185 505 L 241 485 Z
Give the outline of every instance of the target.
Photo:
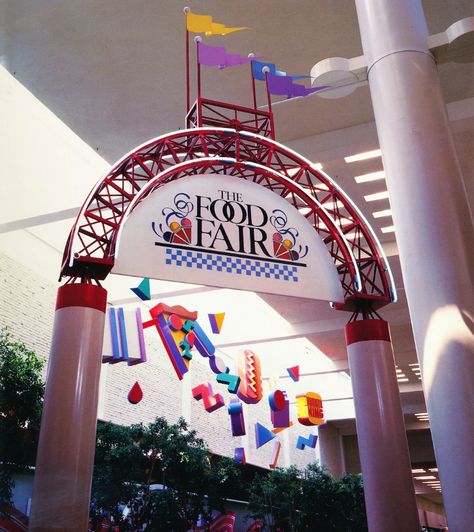
M 241 259 L 223 255 L 211 255 L 199 251 L 166 248 L 166 264 L 197 268 L 198 270 L 218 271 L 298 282 L 298 270 L 290 264 Z

